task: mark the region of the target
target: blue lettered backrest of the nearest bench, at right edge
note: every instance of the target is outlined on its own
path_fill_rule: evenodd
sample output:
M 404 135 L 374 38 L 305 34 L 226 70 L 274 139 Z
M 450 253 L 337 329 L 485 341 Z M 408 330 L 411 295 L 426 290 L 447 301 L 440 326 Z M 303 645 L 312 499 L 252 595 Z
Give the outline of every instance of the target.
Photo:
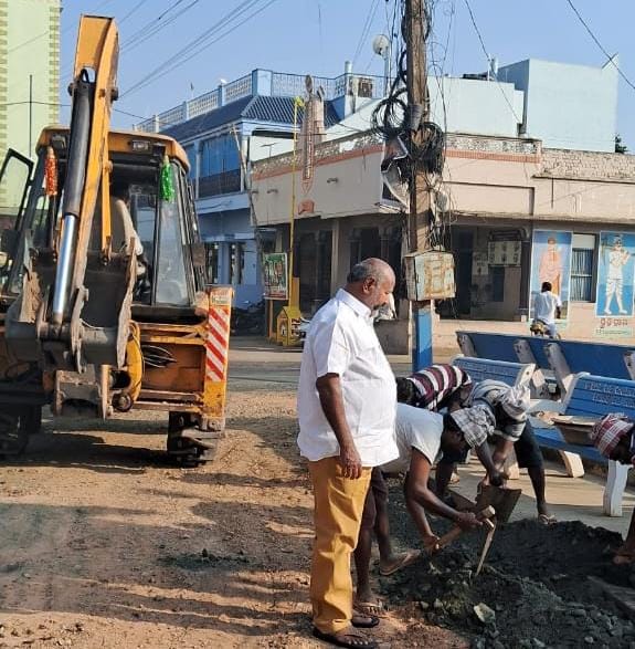
M 635 419 L 635 380 L 578 376 L 564 414 L 600 418 L 608 412 L 623 412 Z

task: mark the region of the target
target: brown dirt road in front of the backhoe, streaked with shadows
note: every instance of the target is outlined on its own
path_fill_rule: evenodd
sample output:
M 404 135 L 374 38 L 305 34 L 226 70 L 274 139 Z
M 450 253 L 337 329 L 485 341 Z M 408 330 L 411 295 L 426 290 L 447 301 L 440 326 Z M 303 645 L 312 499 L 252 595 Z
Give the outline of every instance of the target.
M 162 420 L 46 421 L 0 469 L 0 647 L 319 647 L 295 394 L 234 381 L 227 437 L 168 464 Z M 54 432 L 53 432 L 54 431 Z M 393 647 L 464 647 L 398 609 Z

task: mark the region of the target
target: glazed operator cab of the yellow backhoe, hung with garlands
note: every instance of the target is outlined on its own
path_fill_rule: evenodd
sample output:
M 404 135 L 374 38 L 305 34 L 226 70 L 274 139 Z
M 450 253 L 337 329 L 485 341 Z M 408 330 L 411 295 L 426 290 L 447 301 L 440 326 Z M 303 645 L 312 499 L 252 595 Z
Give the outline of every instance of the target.
M 2 168 L 0 191 L 10 180 L 14 202 L 19 203 L 15 213 L 7 219 L 9 233 L 2 235 L 0 248 L 0 294 L 6 302 L 20 294 L 24 270 L 30 269 L 34 258 L 54 258 L 57 253 L 66 146 L 67 130 L 46 129 L 39 143 L 34 174 L 32 163 L 14 151 L 10 151 Z M 170 138 L 110 132 L 108 155 L 113 164 L 110 254 L 131 252 L 136 257 L 134 317 L 152 320 L 154 313 L 168 310 L 187 318 L 195 304 L 195 294 L 205 287 L 205 270 L 186 154 Z M 89 255 L 100 253 L 100 205 L 99 195 Z M 135 240 L 133 249 L 130 239 Z M 103 278 L 98 270 L 93 266 L 89 275 L 89 290 L 99 292 Z

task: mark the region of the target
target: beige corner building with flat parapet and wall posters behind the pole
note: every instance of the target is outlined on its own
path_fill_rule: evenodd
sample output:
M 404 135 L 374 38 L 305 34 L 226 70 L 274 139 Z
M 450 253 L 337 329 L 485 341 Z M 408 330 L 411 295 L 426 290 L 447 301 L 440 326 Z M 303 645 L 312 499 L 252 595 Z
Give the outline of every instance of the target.
M 295 223 L 295 273 L 306 313 L 343 282 L 352 263 L 370 255 L 390 261 L 400 276 L 396 294 L 403 296 L 405 219 L 383 190 L 382 156 L 382 142 L 371 134 L 316 146 L 313 187 L 297 199 L 313 211 L 298 213 Z M 288 247 L 288 226 L 279 214 L 290 200 L 290 164 L 287 154 L 253 168 L 256 217 L 265 227 L 277 227 L 278 250 Z M 551 238 L 565 302 L 562 334 L 635 341 L 634 156 L 544 149 L 528 138 L 449 134 L 435 202 L 437 232 L 454 253 L 457 284 L 456 297 L 437 304 L 437 347 L 452 347 L 455 331 L 475 321 L 527 333 L 531 294 L 542 280 Z M 631 253 L 624 258 L 622 307 L 608 295 L 606 281 L 616 239 Z M 388 349 L 404 353 L 410 335 L 405 302 L 400 318 L 383 323 L 382 336 Z

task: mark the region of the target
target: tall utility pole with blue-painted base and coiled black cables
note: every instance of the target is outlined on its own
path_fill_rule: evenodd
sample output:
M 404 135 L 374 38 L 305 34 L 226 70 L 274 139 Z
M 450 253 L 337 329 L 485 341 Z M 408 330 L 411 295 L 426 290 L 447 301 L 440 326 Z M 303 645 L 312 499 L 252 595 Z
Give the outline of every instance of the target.
M 411 142 L 421 147 L 426 137 L 423 123 L 428 121 L 425 0 L 405 2 L 405 46 L 408 62 L 408 105 Z M 420 126 L 421 125 L 421 126 Z M 410 252 L 430 248 L 430 190 L 425 169 L 411 158 L 410 214 L 408 219 Z M 414 341 L 412 369 L 416 371 L 432 364 L 432 303 L 412 303 Z

